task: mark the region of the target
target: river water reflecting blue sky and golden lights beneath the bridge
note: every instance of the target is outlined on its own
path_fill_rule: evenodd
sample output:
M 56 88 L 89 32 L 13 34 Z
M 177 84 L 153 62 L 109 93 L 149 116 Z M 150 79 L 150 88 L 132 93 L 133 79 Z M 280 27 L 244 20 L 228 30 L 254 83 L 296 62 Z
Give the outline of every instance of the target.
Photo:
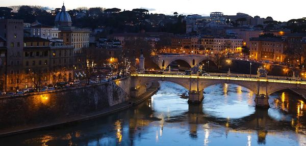
M 200 105 L 184 87 L 162 82 L 143 104 L 90 121 L 0 139 L 0 145 L 306 145 L 306 105 L 290 92 L 257 109 L 254 94 L 235 84 L 205 89 Z

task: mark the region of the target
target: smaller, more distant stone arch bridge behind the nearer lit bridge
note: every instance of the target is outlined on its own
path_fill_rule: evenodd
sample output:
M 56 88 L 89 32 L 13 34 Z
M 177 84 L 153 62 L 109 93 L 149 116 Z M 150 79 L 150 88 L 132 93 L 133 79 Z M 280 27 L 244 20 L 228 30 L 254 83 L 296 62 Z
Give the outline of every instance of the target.
M 191 68 L 205 60 L 210 60 L 216 64 L 216 60 L 213 55 L 204 54 L 158 54 L 155 58 L 155 63 L 160 67 L 160 69 L 164 70 L 172 62 L 177 60 L 187 62 Z

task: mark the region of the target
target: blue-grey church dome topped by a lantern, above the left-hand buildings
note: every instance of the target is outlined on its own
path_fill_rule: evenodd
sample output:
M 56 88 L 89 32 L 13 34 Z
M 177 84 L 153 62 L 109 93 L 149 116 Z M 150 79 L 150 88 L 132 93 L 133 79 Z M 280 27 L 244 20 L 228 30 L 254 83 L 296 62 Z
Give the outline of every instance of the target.
M 61 27 L 71 27 L 72 21 L 68 12 L 66 12 L 66 8 L 63 4 L 62 10 L 55 17 L 55 25 L 59 28 Z

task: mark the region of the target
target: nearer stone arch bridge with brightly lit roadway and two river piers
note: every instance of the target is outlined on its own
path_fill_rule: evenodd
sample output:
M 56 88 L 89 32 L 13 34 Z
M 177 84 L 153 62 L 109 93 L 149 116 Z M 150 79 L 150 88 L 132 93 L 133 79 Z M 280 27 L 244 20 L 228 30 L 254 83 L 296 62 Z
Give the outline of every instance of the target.
M 238 75 L 239 77 L 236 77 Z M 253 78 L 253 77 L 257 78 Z M 151 81 L 170 81 L 182 85 L 189 91 L 189 103 L 200 103 L 203 90 L 218 83 L 232 83 L 245 87 L 257 96 L 256 106 L 269 107 L 268 95 L 285 89 L 306 89 L 306 81 L 296 77 L 267 76 L 258 78 L 249 74 L 210 73 L 210 76 L 176 75 L 176 74 L 131 74 L 131 96 L 137 97 L 145 92 L 145 86 Z M 290 78 L 291 80 L 287 80 Z

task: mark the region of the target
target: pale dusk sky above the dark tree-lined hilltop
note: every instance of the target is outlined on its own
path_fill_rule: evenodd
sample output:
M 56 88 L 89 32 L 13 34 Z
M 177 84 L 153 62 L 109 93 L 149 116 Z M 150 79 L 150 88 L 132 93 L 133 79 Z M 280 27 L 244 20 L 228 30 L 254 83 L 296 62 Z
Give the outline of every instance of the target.
M 145 8 L 150 13 L 164 13 L 173 14 L 200 14 L 208 16 L 210 12 L 223 12 L 224 15 L 236 15 L 237 12 L 246 13 L 250 16 L 267 17 L 271 16 L 277 21 L 288 21 L 290 19 L 306 17 L 304 6 L 306 2 L 301 0 L 219 0 L 219 1 L 206 1 L 206 0 L 87 0 L 87 1 L 74 1 L 66 0 L 66 9 L 73 9 L 78 7 L 103 7 L 103 8 L 119 8 L 122 11 L 132 10 L 134 8 Z M 41 1 L 41 0 L 11 0 L 2 1 L 1 6 L 15 6 L 15 5 L 37 5 L 50 8 L 60 8 L 63 5 L 62 0 Z

